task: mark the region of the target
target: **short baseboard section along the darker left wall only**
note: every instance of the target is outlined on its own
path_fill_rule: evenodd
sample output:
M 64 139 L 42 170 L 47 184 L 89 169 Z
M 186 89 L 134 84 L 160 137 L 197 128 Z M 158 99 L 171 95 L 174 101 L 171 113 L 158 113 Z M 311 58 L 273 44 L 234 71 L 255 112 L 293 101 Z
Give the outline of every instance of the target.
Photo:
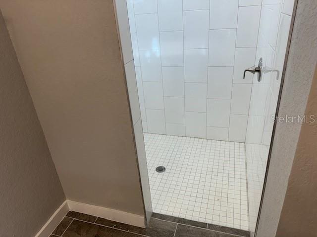
M 67 200 L 65 200 L 53 213 L 35 237 L 49 237 L 69 211 Z

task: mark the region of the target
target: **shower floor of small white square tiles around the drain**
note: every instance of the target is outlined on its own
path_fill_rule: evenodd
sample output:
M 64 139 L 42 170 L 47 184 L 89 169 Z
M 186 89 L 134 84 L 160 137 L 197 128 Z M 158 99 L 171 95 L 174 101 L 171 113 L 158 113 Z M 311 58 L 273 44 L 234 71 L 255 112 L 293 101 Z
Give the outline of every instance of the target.
M 248 230 L 245 144 L 144 133 L 153 211 Z M 156 172 L 163 165 L 166 171 Z

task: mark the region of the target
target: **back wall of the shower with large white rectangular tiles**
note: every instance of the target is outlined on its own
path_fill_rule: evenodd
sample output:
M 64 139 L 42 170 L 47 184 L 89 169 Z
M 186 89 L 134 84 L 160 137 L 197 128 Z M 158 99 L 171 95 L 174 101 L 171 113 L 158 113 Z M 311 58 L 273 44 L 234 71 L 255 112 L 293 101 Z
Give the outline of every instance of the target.
M 127 6 L 134 12 L 129 21 L 143 127 L 244 142 L 245 131 L 234 136 L 230 117 L 248 118 L 253 75 L 243 79 L 243 72 L 256 63 L 261 0 L 128 0 Z M 146 109 L 163 112 L 165 126 L 149 122 Z

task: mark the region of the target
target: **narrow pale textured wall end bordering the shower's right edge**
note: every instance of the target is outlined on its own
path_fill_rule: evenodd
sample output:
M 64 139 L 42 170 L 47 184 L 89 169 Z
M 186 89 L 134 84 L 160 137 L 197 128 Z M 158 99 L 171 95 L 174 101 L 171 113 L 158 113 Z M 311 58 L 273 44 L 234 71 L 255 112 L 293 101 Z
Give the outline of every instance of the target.
M 305 113 L 317 62 L 316 14 L 316 0 L 298 1 L 279 116 Z M 300 123 L 276 125 L 257 237 L 276 234 L 300 131 Z

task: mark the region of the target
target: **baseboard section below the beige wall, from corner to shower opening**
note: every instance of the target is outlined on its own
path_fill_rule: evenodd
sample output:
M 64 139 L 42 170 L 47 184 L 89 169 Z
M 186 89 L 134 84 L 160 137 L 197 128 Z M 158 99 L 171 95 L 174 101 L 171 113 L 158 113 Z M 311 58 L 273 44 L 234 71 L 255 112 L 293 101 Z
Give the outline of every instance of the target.
M 72 211 L 77 211 L 93 216 L 98 216 L 105 218 L 107 220 L 111 221 L 116 221 L 120 223 L 125 223 L 128 225 L 132 226 L 138 226 L 138 227 L 145 227 L 145 217 L 124 212 L 124 211 L 119 211 L 119 210 L 114 210 L 114 209 L 109 209 L 106 207 L 102 206 L 94 206 L 82 202 L 77 202 L 77 201 L 71 201 L 67 200 L 69 209 Z

